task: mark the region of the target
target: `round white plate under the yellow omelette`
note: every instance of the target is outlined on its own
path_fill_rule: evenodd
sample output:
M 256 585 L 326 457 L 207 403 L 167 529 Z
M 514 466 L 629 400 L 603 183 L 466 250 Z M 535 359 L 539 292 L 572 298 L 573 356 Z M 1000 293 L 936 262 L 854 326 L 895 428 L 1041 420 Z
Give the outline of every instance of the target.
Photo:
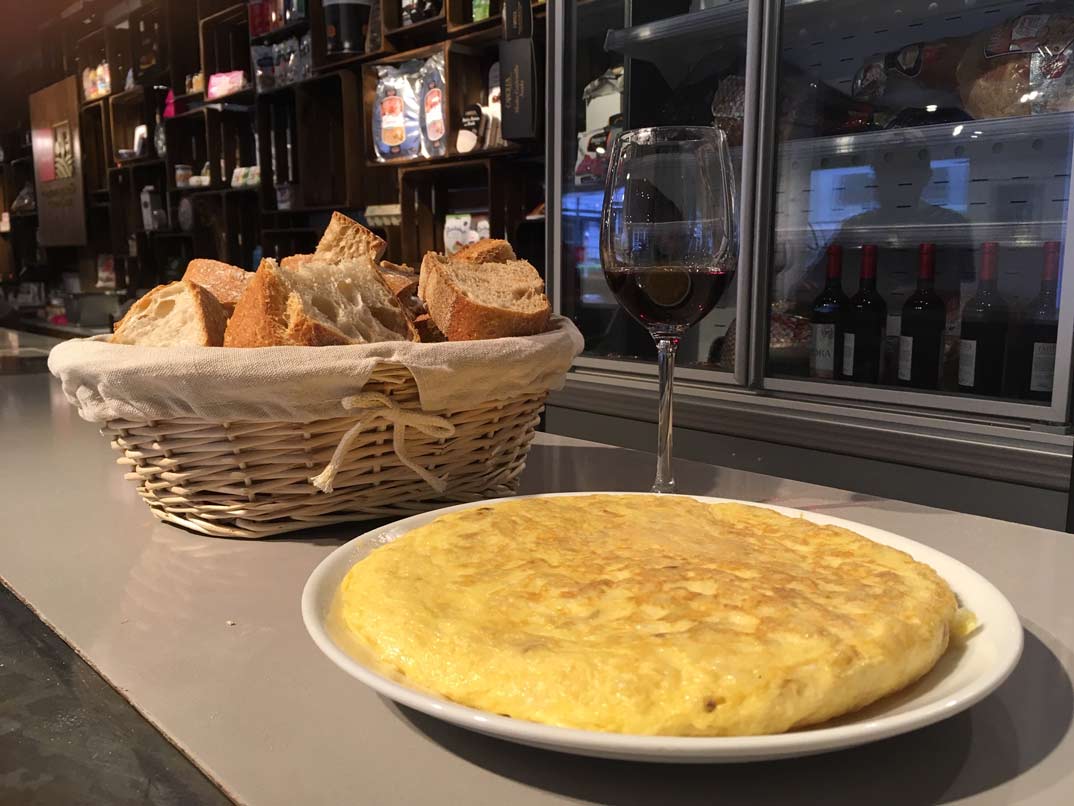
M 693 498 L 713 504 L 729 501 L 729 499 L 699 495 Z M 814 523 L 844 527 L 928 563 L 950 585 L 962 604 L 976 614 L 981 628 L 964 649 L 949 650 L 937 666 L 916 683 L 856 714 L 826 722 L 823 726 L 774 736 L 707 738 L 637 736 L 553 728 L 458 705 L 436 694 L 391 679 L 382 670 L 378 671 L 378 665 L 372 656 L 364 652 L 357 643 L 348 643 L 344 633 L 330 623 L 330 607 L 339 582 L 351 566 L 374 548 L 398 538 L 444 513 L 471 506 L 495 505 L 511 500 L 517 499 L 479 501 L 415 515 L 366 532 L 337 548 L 317 566 L 302 593 L 302 617 L 314 642 L 342 670 L 384 696 L 473 731 L 534 747 L 584 755 L 694 763 L 761 761 L 809 755 L 906 733 L 952 717 L 983 700 L 1006 679 L 1021 654 L 1021 623 L 1014 607 L 987 579 L 958 560 L 873 527 L 768 504 L 754 504 L 754 506 L 764 506 L 784 515 L 800 516 Z

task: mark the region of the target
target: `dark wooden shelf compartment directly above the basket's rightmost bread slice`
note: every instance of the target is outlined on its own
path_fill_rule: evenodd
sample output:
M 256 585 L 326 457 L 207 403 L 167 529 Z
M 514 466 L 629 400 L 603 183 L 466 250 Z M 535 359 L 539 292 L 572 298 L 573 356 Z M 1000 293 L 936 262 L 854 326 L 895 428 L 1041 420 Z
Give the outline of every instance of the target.
M 449 213 L 487 214 L 490 235 L 511 241 L 537 203 L 540 175 L 539 167 L 495 159 L 401 169 L 401 243 L 390 253 L 418 267 L 426 251 L 444 251 Z

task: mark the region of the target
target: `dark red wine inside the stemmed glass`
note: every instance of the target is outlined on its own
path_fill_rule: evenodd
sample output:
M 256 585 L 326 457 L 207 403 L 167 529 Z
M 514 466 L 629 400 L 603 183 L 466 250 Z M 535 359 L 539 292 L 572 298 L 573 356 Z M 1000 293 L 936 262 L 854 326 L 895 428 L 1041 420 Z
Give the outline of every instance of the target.
M 730 272 L 659 267 L 605 272 L 619 303 L 652 333 L 682 335 L 720 301 Z

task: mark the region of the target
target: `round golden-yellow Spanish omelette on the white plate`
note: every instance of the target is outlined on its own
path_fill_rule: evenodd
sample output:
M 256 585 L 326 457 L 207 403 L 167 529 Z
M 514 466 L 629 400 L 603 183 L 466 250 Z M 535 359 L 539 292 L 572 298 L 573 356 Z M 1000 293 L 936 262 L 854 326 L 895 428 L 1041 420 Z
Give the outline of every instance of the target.
M 355 564 L 336 606 L 383 667 L 451 701 L 694 736 L 856 710 L 926 674 L 970 623 L 902 551 L 669 495 L 450 513 Z

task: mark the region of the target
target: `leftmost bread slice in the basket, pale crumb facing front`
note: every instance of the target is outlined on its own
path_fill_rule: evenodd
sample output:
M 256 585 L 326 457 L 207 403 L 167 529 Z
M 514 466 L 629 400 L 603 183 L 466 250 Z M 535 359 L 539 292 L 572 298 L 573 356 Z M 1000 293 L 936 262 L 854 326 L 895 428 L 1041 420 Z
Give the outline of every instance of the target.
M 110 341 L 146 347 L 219 347 L 227 326 L 228 314 L 216 297 L 180 279 L 157 286 L 131 305 Z

